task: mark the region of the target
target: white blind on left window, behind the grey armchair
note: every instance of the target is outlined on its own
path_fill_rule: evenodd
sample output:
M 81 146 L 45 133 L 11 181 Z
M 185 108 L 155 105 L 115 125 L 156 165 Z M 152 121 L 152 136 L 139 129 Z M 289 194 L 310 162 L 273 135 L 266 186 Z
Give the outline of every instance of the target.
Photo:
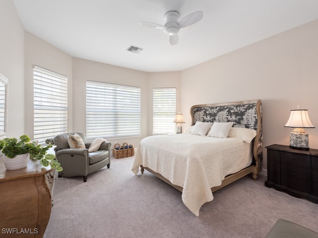
M 34 65 L 34 140 L 66 133 L 68 128 L 68 77 Z

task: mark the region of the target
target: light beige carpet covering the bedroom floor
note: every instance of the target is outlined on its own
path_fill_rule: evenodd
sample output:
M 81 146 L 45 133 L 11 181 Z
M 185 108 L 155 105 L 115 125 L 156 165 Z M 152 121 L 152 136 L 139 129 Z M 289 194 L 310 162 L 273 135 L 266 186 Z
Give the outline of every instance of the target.
M 194 216 L 181 193 L 145 171 L 133 157 L 82 178 L 56 178 L 45 238 L 264 238 L 279 218 L 318 232 L 318 204 L 246 176 L 214 192 Z

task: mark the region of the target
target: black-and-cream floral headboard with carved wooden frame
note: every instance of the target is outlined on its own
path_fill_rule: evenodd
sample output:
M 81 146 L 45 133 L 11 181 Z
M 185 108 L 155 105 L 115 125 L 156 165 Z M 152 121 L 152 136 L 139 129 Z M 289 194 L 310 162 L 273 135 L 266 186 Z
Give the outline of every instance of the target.
M 194 125 L 197 121 L 233 121 L 234 127 L 245 127 L 256 130 L 256 136 L 253 140 L 253 155 L 256 166 L 262 166 L 263 135 L 261 100 L 194 105 L 190 109 L 190 114 L 192 117 L 192 125 Z

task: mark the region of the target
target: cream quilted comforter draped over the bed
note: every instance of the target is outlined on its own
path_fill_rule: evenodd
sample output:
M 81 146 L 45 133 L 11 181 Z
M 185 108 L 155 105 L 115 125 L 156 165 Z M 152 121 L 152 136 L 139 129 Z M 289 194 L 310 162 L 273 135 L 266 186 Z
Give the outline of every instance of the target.
M 252 149 L 238 138 L 169 134 L 144 138 L 137 147 L 132 171 L 143 165 L 183 187 L 182 201 L 196 216 L 213 200 L 211 187 L 225 176 L 249 166 Z

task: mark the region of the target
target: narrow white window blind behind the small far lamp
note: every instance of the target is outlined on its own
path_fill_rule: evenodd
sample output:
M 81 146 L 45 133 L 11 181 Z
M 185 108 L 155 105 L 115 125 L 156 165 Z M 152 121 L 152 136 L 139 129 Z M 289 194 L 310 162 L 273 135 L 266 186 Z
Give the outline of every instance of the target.
M 153 134 L 175 133 L 176 89 L 153 89 Z

